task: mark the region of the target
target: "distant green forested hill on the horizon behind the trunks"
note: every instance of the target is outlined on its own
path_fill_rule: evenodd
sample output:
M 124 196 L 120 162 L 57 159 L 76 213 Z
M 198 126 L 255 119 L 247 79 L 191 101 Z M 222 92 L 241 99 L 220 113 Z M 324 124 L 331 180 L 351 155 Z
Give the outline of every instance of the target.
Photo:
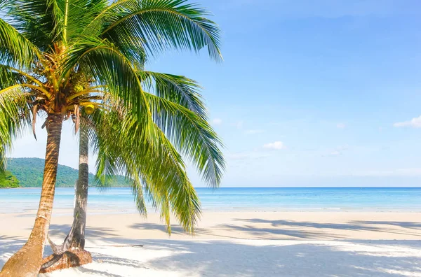
M 45 159 L 11 158 L 7 162 L 6 173 L 0 175 L 0 187 L 41 187 L 44 175 Z M 78 170 L 58 165 L 56 187 L 74 187 L 78 178 Z M 89 173 L 89 185 L 95 186 L 95 175 Z M 128 187 L 124 176 L 117 176 L 112 187 Z

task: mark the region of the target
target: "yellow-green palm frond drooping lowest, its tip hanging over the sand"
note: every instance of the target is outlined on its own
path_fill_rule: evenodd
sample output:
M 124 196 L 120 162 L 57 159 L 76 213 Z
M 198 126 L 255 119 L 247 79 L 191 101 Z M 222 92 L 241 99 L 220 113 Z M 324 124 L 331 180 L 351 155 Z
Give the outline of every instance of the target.
M 99 157 L 104 161 L 117 161 L 115 157 L 119 157 L 112 167 L 126 171 L 132 180 L 141 180 L 156 207 L 165 207 L 168 202 L 182 226 L 193 232 L 200 214 L 199 198 L 181 156 L 163 132 L 156 125 L 156 135 L 142 132 L 144 123 L 130 113 L 108 112 L 102 116 L 98 112 L 93 121 L 98 126 L 93 144 Z M 97 170 L 99 175 L 103 173 L 102 168 Z

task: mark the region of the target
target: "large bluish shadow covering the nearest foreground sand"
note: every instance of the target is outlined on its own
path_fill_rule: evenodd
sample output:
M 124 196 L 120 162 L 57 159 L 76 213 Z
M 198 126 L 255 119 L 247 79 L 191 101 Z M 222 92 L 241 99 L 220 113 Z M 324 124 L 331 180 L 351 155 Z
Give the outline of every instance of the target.
M 101 266 L 82 267 L 81 272 L 104 276 L 137 276 L 141 270 L 165 270 L 185 276 L 413 276 L 421 274 L 420 241 L 330 241 L 269 243 L 250 241 L 172 241 L 119 240 L 120 243 L 145 244 L 140 257 L 116 257 L 109 249 L 93 249 L 93 259 Z M 408 250 L 406 246 L 417 247 Z M 414 248 L 412 248 L 414 249 Z M 142 251 L 162 253 L 145 259 Z M 415 251 L 415 252 L 414 252 Z M 105 269 L 113 264 L 126 271 Z M 142 271 L 144 273 L 145 271 Z M 139 272 L 140 273 L 140 272 Z M 409 274 L 409 275 L 408 275 Z

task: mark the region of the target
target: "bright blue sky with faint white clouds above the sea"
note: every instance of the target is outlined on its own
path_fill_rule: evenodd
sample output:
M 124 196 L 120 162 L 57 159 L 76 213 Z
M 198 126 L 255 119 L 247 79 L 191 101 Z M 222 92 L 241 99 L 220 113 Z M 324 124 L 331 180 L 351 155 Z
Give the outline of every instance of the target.
M 174 51 L 147 69 L 203 86 L 225 144 L 222 187 L 421 186 L 420 1 L 195 2 L 222 29 L 224 62 Z M 10 156 L 44 158 L 36 132 Z M 59 162 L 77 168 L 69 123 Z

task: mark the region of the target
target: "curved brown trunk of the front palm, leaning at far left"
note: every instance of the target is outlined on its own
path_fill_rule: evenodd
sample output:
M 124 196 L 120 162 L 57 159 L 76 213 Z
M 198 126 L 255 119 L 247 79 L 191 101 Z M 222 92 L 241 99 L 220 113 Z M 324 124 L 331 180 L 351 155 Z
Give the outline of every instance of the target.
M 53 211 L 55 180 L 57 177 L 58 155 L 62 132 L 62 114 L 49 114 L 47 118 L 47 146 L 46 164 L 44 166 L 44 180 L 36 213 L 34 228 L 31 235 L 15 255 L 4 264 L 0 276 L 36 276 L 41 268 L 44 243 L 50 227 Z

